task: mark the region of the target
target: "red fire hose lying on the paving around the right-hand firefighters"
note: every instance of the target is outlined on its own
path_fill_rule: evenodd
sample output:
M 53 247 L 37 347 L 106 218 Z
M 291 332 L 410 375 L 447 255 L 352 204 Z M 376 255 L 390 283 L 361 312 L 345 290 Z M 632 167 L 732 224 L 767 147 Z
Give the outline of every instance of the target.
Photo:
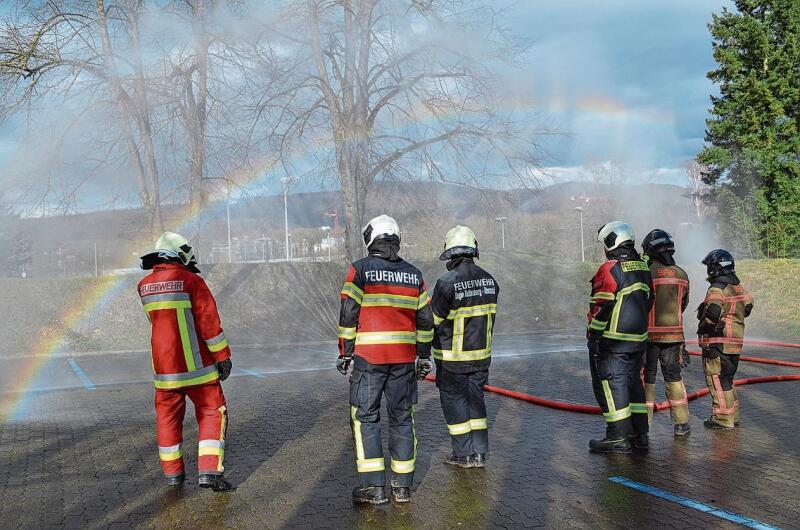
M 696 340 L 687 341 L 691 343 L 697 343 Z M 754 346 L 773 346 L 773 347 L 780 347 L 780 348 L 797 348 L 800 349 L 800 344 L 792 344 L 787 342 L 777 342 L 777 341 L 762 341 L 762 340 L 746 340 L 745 344 L 751 344 Z M 698 351 L 689 351 L 690 355 L 699 357 L 702 354 Z M 778 359 L 768 359 L 765 357 L 751 357 L 748 355 L 741 355 L 739 356 L 740 361 L 751 362 L 751 363 L 758 363 L 758 364 L 771 364 L 777 366 L 791 366 L 794 368 L 800 368 L 800 362 L 793 362 L 793 361 L 781 361 Z M 426 378 L 428 381 L 435 381 L 436 379 L 428 375 Z M 800 381 L 800 374 L 792 374 L 792 375 L 770 375 L 765 377 L 748 377 L 744 379 L 736 379 L 733 384 L 736 386 L 743 386 L 743 385 L 753 385 L 756 383 L 774 383 L 780 381 Z M 524 392 L 517 392 L 515 390 L 508 390 L 507 388 L 501 388 L 492 385 L 485 385 L 484 390 L 487 392 L 492 392 L 494 394 L 500 394 L 501 396 L 507 396 L 514 399 L 519 399 L 520 401 L 526 401 L 528 403 L 533 403 L 534 405 L 540 405 L 542 407 L 548 407 L 551 409 L 558 409 L 558 410 L 567 410 L 570 412 L 580 412 L 583 414 L 600 414 L 602 411 L 600 407 L 596 405 L 583 405 L 580 403 L 568 403 L 565 401 L 557 401 L 553 399 L 547 399 L 539 396 L 533 396 L 531 394 L 526 394 Z M 708 389 L 703 388 L 701 390 L 696 390 L 694 392 L 689 393 L 686 397 L 689 401 L 693 401 L 697 398 L 703 397 L 708 394 Z M 655 410 L 665 410 L 669 408 L 669 401 L 662 401 L 660 403 L 655 404 Z

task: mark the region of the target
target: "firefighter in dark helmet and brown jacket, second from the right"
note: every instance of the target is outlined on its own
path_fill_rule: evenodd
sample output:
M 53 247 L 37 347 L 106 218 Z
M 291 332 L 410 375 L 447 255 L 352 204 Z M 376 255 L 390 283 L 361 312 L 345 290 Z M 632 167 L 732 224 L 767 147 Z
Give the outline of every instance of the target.
M 647 326 L 644 367 L 647 417 L 652 422 L 656 401 L 656 375 L 660 363 L 675 436 L 685 436 L 691 432 L 689 401 L 681 377 L 681 368 L 689 363 L 683 336 L 683 312 L 689 304 L 689 276 L 675 264 L 672 257 L 675 243 L 665 230 L 656 228 L 647 234 L 642 241 L 642 250 L 647 256 L 655 289 L 655 304 L 650 311 Z

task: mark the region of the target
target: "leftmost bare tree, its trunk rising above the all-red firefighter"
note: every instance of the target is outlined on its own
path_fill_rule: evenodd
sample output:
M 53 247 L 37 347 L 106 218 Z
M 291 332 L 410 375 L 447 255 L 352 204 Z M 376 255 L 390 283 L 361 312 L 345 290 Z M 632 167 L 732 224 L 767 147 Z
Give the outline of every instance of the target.
M 36 98 L 82 98 L 86 107 L 107 107 L 133 168 L 151 232 L 156 232 L 163 222 L 139 42 L 141 9 L 141 0 L 21 5 L 3 20 L 0 30 L 0 86 L 6 112 L 24 109 Z M 124 39 L 124 52 L 118 51 L 115 38 Z

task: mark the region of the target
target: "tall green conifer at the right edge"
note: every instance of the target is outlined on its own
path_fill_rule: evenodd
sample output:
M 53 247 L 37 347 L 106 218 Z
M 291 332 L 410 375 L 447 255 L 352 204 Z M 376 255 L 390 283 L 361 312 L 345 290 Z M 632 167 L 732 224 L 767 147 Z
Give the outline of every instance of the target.
M 720 94 L 698 161 L 735 252 L 800 256 L 800 2 L 735 6 L 709 25 Z

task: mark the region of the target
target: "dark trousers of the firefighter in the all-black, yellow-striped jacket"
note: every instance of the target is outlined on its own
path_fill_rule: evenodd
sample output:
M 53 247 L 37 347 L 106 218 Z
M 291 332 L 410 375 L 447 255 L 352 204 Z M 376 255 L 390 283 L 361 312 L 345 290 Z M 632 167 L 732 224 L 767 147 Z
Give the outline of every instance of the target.
M 489 425 L 483 385 L 489 380 L 489 370 L 456 373 L 440 365 L 436 371 L 436 386 L 442 412 L 450 433 L 453 455 L 470 456 L 489 451 Z

